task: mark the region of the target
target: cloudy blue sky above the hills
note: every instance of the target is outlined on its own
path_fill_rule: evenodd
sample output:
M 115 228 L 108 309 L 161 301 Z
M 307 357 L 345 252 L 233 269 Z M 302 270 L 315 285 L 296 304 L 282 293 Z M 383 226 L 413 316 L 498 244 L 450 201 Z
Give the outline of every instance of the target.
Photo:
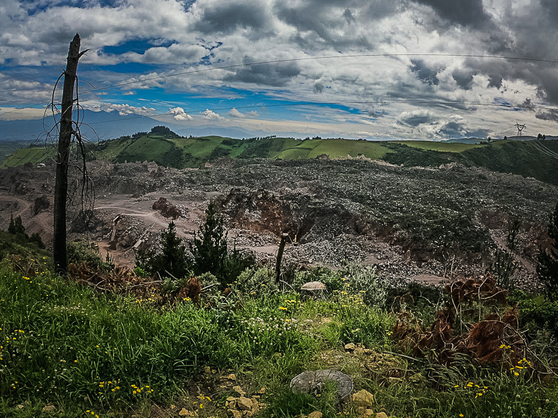
M 556 0 L 1 0 L 0 120 L 43 116 L 80 33 L 82 107 L 184 132 L 557 134 L 557 20 Z

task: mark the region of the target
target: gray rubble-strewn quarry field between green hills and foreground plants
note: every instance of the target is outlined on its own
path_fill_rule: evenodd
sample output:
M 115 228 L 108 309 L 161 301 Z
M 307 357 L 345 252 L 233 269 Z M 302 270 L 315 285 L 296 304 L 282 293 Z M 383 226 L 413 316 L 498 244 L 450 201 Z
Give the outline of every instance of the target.
M 103 161 L 88 168 L 92 217 L 85 228 L 73 216 L 70 236 L 97 242 L 101 255 L 109 251 L 117 265 L 130 266 L 137 248 L 158 245 L 171 219 L 190 240 L 215 199 L 229 245 L 252 251 L 261 263 L 275 262 L 280 234 L 288 233 L 285 265 L 338 268 L 354 261 L 375 265 L 382 280 L 395 284 L 483 273 L 518 219 L 515 280 L 532 290 L 558 200 L 555 185 L 455 163 L 222 159 L 200 169 Z M 75 186 L 73 208 L 81 203 Z M 0 170 L 0 228 L 10 215 L 21 215 L 27 232 L 40 233 L 49 245 L 53 189 L 54 165 Z

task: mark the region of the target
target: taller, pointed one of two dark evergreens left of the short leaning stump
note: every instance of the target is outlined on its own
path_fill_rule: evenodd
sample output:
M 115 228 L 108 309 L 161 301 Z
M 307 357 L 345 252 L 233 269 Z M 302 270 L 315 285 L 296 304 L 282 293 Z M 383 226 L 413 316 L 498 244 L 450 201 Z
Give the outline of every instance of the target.
M 190 251 L 194 256 L 194 272 L 210 272 L 223 279 L 226 276 L 227 263 L 227 232 L 223 226 L 223 217 L 217 211 L 214 201 L 209 202 L 205 214 L 205 222 L 199 226 L 193 242 L 190 242 Z

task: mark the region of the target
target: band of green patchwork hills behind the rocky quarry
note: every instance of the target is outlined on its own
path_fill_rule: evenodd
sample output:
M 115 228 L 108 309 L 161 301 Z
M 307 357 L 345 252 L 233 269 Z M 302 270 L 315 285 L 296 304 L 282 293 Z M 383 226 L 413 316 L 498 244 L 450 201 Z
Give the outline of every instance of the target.
M 366 157 L 391 164 L 439 167 L 458 162 L 469 167 L 534 177 L 558 185 L 558 141 L 494 141 L 461 144 L 435 141 L 355 141 L 351 139 L 294 139 L 280 137 L 232 139 L 224 137 L 179 137 L 165 127 L 151 132 L 104 141 L 91 146 L 93 159 L 111 162 L 153 161 L 183 169 L 202 167 L 219 157 L 297 160 Z M 54 157 L 54 148 L 28 147 L 16 150 L 1 168 Z

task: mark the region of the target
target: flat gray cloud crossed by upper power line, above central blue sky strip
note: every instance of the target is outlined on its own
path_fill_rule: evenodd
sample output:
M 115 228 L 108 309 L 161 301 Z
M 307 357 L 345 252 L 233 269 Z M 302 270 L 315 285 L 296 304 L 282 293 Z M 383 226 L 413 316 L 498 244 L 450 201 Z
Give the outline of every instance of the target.
M 254 60 L 244 59 L 243 61 L 249 63 Z M 225 77 L 224 81 L 281 87 L 300 73 L 301 69 L 297 63 L 258 64 L 239 68 L 234 72 L 234 75 Z

